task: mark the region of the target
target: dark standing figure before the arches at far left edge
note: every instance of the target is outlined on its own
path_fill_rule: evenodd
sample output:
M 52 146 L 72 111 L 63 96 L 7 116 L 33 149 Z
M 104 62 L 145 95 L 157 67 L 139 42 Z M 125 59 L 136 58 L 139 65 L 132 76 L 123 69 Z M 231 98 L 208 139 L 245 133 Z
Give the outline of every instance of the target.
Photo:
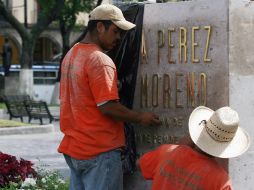
M 9 76 L 12 59 L 12 48 L 8 38 L 5 38 L 3 45 L 3 67 L 5 76 Z

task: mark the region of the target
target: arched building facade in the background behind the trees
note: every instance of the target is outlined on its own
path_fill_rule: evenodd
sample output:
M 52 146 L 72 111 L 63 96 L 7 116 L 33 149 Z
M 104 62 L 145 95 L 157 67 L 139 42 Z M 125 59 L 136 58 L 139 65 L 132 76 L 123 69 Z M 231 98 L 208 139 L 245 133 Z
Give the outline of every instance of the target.
M 12 12 L 19 22 L 24 23 L 28 28 L 37 22 L 37 15 L 39 6 L 36 0 L 4 0 L 3 1 Z M 112 3 L 110 0 L 104 0 L 103 3 Z M 77 24 L 86 25 L 88 22 L 88 14 L 80 13 L 77 19 Z M 10 24 L 4 21 L 3 17 L 0 17 L 0 53 L 2 53 L 2 46 L 4 39 L 8 38 L 11 42 L 13 49 L 12 63 L 19 64 L 20 49 L 22 47 L 22 40 L 19 34 L 13 29 Z M 74 31 L 71 34 L 70 42 L 73 42 L 82 31 Z M 56 26 L 50 26 L 45 30 L 34 50 L 34 61 L 45 62 L 52 61 L 56 54 L 62 51 L 62 37 L 59 32 L 59 28 Z M 2 57 L 0 57 L 0 65 L 2 64 Z

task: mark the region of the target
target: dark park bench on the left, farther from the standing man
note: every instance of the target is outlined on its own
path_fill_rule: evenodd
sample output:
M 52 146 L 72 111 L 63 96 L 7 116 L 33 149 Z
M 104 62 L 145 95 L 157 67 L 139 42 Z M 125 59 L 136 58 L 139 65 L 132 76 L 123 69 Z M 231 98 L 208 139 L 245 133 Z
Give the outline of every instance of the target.
M 20 118 L 23 122 L 23 117 L 28 116 L 23 102 L 30 101 L 30 97 L 28 95 L 5 95 L 3 100 L 10 120 L 12 118 Z

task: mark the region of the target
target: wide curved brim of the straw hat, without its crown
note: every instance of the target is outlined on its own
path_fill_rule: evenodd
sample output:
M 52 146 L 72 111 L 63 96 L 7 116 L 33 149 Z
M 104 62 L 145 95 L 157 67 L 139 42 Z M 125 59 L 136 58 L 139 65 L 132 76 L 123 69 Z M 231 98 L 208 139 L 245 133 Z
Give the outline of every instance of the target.
M 202 120 L 208 121 L 214 111 L 199 106 L 189 117 L 189 133 L 192 141 L 204 152 L 219 158 L 232 158 L 243 154 L 250 146 L 249 135 L 238 127 L 234 138 L 230 142 L 214 140 L 206 131 Z

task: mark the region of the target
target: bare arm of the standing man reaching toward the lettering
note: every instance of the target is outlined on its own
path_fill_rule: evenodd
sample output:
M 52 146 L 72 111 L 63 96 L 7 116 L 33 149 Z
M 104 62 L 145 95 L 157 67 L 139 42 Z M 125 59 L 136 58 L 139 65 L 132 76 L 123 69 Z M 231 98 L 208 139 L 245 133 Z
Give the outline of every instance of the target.
M 159 117 L 152 112 L 135 112 L 132 111 L 117 101 L 108 101 L 99 106 L 100 111 L 115 120 L 140 123 L 141 125 L 159 125 L 161 122 Z

